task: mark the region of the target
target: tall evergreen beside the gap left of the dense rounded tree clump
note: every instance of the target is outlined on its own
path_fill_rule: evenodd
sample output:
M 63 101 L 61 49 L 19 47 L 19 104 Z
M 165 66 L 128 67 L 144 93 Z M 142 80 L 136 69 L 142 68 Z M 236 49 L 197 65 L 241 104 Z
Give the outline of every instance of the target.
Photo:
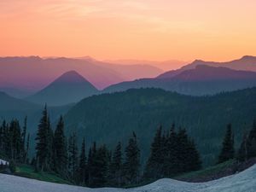
M 140 149 L 137 145 L 137 136 L 133 132 L 133 137 L 129 139 L 125 148 L 125 180 L 128 184 L 138 183 L 140 178 Z

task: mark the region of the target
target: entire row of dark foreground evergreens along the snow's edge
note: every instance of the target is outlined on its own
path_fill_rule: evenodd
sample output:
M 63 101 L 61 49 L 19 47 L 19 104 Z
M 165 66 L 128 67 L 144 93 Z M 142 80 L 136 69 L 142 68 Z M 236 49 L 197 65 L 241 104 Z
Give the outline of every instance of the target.
M 141 162 L 135 132 L 126 146 L 119 142 L 113 151 L 96 143 L 87 147 L 84 139 L 79 146 L 78 140 L 75 132 L 66 137 L 62 117 L 53 129 L 45 107 L 38 124 L 36 154 L 32 160 L 27 157 L 29 134 L 26 133 L 26 119 L 22 126 L 16 119 L 9 123 L 3 121 L 0 126 L 0 157 L 15 163 L 30 163 L 35 172 L 55 172 L 74 184 L 88 187 L 131 186 L 201 169 L 201 158 L 194 141 L 185 129 L 177 128 L 175 124 L 168 131 L 163 131 L 161 126 L 157 129 L 145 163 Z M 232 126 L 227 125 L 218 163 L 235 158 L 245 161 L 252 157 L 256 157 L 256 121 L 251 131 L 245 134 L 237 152 Z

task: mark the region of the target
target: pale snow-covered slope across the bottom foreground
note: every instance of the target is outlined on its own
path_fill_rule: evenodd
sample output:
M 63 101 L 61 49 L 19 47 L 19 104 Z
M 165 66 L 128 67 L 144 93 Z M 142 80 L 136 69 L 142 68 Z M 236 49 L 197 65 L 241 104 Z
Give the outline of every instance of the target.
M 171 178 L 162 178 L 154 183 L 130 189 L 90 189 L 5 174 L 0 174 L 0 185 L 4 192 L 34 192 L 35 190 L 38 192 L 253 192 L 256 186 L 256 166 L 252 166 L 235 175 L 223 177 L 207 183 L 187 183 Z

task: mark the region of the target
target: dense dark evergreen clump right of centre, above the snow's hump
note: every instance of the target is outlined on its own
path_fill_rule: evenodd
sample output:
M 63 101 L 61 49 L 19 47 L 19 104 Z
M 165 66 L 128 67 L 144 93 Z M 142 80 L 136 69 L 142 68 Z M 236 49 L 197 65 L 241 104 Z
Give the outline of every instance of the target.
M 162 127 L 156 131 L 151 144 L 144 177 L 158 179 L 196 171 L 201 168 L 200 154 L 195 148 L 194 141 L 188 137 L 185 129 L 172 125 L 170 131 L 162 133 Z

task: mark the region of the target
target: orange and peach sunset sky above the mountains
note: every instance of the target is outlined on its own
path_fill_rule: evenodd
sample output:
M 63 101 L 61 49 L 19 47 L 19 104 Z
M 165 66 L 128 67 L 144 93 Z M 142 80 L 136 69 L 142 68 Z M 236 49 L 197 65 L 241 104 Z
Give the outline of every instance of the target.
M 256 55 L 255 0 L 0 0 L 0 55 L 228 61 Z

